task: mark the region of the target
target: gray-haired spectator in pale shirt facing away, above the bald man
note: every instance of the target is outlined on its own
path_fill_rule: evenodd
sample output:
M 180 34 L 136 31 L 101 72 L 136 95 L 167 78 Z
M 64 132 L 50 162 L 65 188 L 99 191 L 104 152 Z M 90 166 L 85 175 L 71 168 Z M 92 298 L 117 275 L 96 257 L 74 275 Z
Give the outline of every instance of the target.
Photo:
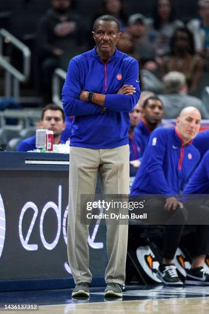
M 162 78 L 163 95 L 159 95 L 164 105 L 164 118 L 175 119 L 181 110 L 187 106 L 196 107 L 203 119 L 209 119 L 202 101 L 194 96 L 187 95 L 186 78 L 183 73 L 169 72 Z

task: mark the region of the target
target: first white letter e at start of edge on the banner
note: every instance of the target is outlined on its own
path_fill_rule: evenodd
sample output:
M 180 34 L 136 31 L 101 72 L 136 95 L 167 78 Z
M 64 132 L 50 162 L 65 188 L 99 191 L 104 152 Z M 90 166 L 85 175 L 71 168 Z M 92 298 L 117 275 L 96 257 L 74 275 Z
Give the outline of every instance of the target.
M 23 222 L 23 216 L 24 216 L 24 214 L 28 208 L 32 208 L 34 210 L 34 214 L 33 214 L 33 219 L 31 221 L 30 227 L 28 229 L 28 233 L 26 235 L 26 239 L 24 239 L 23 238 L 23 232 L 22 232 L 22 222 Z M 20 216 L 19 216 L 19 239 L 20 239 L 23 247 L 29 251 L 36 251 L 38 249 L 37 244 L 28 244 L 28 241 L 30 239 L 30 235 L 31 235 L 31 232 L 33 230 L 33 226 L 34 226 L 35 220 L 37 218 L 37 215 L 38 215 L 37 206 L 33 202 L 27 202 L 24 205 L 24 207 L 20 213 Z

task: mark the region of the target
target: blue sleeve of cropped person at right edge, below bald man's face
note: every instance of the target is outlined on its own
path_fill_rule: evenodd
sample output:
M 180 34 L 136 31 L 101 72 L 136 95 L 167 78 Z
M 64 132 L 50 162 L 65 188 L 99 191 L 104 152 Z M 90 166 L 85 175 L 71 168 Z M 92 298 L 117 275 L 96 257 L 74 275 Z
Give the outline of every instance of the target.
M 209 194 L 209 151 L 204 154 L 183 194 Z

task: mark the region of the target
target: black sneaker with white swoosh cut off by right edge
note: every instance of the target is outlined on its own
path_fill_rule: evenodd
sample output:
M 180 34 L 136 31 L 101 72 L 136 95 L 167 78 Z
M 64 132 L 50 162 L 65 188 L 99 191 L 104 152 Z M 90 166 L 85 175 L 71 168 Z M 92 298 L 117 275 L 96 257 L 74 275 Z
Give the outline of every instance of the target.
M 209 285 L 209 272 L 204 267 L 196 267 L 187 271 L 186 285 Z

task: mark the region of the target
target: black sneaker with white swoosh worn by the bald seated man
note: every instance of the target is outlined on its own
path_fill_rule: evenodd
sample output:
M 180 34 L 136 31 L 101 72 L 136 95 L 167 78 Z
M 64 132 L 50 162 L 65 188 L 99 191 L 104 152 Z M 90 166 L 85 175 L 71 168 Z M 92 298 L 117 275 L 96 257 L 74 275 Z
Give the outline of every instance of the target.
M 177 268 L 174 264 L 160 264 L 157 270 L 157 278 L 165 285 L 182 285 Z

